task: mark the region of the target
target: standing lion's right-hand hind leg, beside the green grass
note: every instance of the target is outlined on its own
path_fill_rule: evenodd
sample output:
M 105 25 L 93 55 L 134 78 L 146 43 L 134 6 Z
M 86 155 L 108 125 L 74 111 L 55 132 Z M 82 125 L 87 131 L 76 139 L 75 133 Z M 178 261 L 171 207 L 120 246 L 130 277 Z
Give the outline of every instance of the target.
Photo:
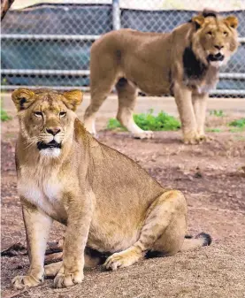
M 121 78 L 116 85 L 116 89 L 119 95 L 119 111 L 117 118 L 122 126 L 125 126 L 135 138 L 151 138 L 153 135 L 152 132 L 143 131 L 142 128 L 137 126 L 134 122 L 133 112 L 138 95 L 138 90 L 135 85 L 131 81 Z

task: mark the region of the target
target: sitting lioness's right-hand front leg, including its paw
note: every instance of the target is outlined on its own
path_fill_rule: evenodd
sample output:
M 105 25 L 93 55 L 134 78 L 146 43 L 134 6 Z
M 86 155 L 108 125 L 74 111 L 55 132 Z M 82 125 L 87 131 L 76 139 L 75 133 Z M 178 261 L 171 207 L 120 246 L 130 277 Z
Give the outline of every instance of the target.
M 69 199 L 63 264 L 54 280 L 55 287 L 71 287 L 83 279 L 84 249 L 92 214 L 90 203 L 86 195 L 72 195 Z

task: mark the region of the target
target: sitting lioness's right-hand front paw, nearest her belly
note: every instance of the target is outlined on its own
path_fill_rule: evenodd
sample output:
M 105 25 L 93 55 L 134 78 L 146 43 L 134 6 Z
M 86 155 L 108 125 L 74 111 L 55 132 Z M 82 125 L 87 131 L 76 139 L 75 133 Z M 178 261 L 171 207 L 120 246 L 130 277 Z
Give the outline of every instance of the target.
M 54 280 L 55 287 L 72 287 L 80 284 L 83 279 L 83 272 L 77 271 L 73 273 L 57 273 Z

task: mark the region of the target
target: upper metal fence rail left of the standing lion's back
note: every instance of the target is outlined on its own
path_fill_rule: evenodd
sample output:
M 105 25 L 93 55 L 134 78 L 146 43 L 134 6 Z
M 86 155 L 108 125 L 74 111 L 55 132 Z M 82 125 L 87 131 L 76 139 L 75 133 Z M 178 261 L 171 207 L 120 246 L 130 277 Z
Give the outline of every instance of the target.
M 96 41 L 100 35 L 61 35 L 61 34 L 1 34 L 1 39 L 19 40 L 66 40 L 66 41 Z

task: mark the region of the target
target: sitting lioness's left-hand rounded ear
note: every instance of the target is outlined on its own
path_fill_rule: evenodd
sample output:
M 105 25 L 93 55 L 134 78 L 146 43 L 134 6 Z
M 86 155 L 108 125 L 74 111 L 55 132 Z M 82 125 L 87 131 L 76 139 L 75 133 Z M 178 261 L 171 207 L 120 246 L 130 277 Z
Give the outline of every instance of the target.
M 34 92 L 20 88 L 13 91 L 11 99 L 18 111 L 25 110 L 34 102 Z

